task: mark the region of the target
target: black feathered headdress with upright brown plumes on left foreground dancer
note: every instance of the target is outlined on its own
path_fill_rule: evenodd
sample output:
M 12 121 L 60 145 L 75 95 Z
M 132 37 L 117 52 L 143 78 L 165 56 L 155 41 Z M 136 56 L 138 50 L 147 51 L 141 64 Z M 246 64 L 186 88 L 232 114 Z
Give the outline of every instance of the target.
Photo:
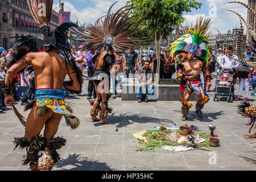
M 71 27 L 76 27 L 75 23 L 63 23 L 56 30 L 50 32 L 49 23 L 51 21 L 51 13 L 53 0 L 27 0 L 28 7 L 31 11 L 35 22 L 39 24 L 40 31 L 42 32 L 44 39 L 36 36 L 21 36 L 15 42 L 16 46 L 13 48 L 14 53 L 7 67 L 11 67 L 16 61 L 21 59 L 28 52 L 39 52 L 43 49 L 44 45 L 48 44 L 60 50 L 61 54 L 65 58 L 65 64 L 70 65 L 79 78 L 80 86 L 82 86 L 82 72 L 76 67 L 75 60 L 71 53 L 71 45 L 68 42 L 68 30 Z M 22 71 L 20 71 L 22 72 Z M 73 92 L 72 90 L 70 90 Z

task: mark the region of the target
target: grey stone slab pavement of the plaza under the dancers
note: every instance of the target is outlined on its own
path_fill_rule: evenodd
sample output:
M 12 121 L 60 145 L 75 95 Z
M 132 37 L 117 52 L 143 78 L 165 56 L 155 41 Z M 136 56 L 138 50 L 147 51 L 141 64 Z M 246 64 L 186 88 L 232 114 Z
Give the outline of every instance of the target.
M 88 81 L 85 81 L 84 93 L 87 93 Z M 213 84 L 214 85 L 214 84 Z M 213 89 L 213 87 L 212 87 Z M 235 93 L 238 91 L 236 85 Z M 85 97 L 75 96 L 67 102 L 73 105 L 75 115 L 80 118 L 81 125 L 76 130 L 66 126 L 61 120 L 56 137 L 64 137 L 67 144 L 59 151 L 61 162 L 56 163 L 53 170 L 256 170 L 256 143 L 243 137 L 248 134 L 249 127 L 246 118 L 237 114 L 237 101 L 226 102 L 226 97 L 220 102 L 213 101 L 213 92 L 209 93 L 210 102 L 205 105 L 204 118 L 197 117 L 195 102 L 189 114 L 188 121 L 181 121 L 179 101 L 142 102 L 121 101 L 110 99 L 113 113 L 109 115 L 105 125 L 90 120 L 90 106 Z M 249 96 L 249 101 L 256 104 L 255 98 Z M 20 102 L 17 107 L 23 112 Z M 138 140 L 134 133 L 150 129 L 154 126 L 166 125 L 177 127 L 188 124 L 195 125 L 201 131 L 209 133 L 208 125 L 216 125 L 214 134 L 220 135 L 220 146 L 209 147 L 212 153 L 203 150 L 176 152 L 159 149 L 152 152 L 137 152 Z M 28 170 L 22 166 L 25 150 L 13 150 L 14 137 L 23 137 L 24 128 L 19 123 L 13 110 L 0 114 L 0 170 Z M 212 160 L 215 156 L 216 163 Z M 213 163 L 210 163 L 213 162 Z

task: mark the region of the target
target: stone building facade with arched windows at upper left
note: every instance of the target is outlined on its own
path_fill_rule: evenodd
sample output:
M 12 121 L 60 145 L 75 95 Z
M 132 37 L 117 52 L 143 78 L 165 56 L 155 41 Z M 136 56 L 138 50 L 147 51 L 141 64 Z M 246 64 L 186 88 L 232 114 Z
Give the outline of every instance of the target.
M 59 13 L 52 11 L 50 29 L 59 26 Z M 72 35 L 76 32 L 71 30 Z M 41 36 L 38 24 L 35 23 L 27 0 L 0 0 L 0 47 L 10 49 L 14 46 L 16 36 Z M 80 42 L 81 43 L 81 42 Z M 71 44 L 79 44 L 77 39 L 71 39 Z

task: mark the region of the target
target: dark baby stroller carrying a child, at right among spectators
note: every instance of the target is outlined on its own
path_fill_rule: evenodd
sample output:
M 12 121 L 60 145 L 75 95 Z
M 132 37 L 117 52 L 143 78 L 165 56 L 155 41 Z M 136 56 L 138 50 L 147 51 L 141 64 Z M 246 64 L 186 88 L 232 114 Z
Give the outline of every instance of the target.
M 220 101 L 219 96 L 227 96 L 227 102 L 234 100 L 233 76 L 229 75 L 229 69 L 223 69 L 216 80 L 216 88 L 213 101 Z

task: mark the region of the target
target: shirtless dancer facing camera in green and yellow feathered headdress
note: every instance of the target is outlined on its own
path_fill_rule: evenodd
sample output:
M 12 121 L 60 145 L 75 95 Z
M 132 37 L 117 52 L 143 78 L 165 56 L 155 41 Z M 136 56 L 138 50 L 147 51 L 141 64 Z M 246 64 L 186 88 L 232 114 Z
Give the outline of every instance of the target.
M 192 106 L 191 102 L 189 102 L 189 97 L 192 92 L 195 92 L 199 97 L 196 103 L 196 114 L 199 117 L 203 117 L 202 109 L 204 104 L 209 101 L 209 96 L 204 92 L 200 79 L 200 73 L 203 70 L 207 77 L 207 85 L 211 85 L 207 69 L 210 52 L 207 45 L 208 35 L 206 35 L 205 31 L 208 29 L 209 23 L 210 19 L 203 20 L 200 18 L 200 20 L 197 20 L 195 28 L 175 40 L 170 48 L 172 56 L 179 53 L 187 53 L 187 60 L 177 65 L 177 78 L 181 81 L 180 90 L 181 93 L 184 92 L 184 98 L 180 98 L 182 104 L 181 113 L 183 114 L 181 120 L 183 121 L 188 119 L 187 115 Z M 201 28 L 199 29 L 198 27 Z

